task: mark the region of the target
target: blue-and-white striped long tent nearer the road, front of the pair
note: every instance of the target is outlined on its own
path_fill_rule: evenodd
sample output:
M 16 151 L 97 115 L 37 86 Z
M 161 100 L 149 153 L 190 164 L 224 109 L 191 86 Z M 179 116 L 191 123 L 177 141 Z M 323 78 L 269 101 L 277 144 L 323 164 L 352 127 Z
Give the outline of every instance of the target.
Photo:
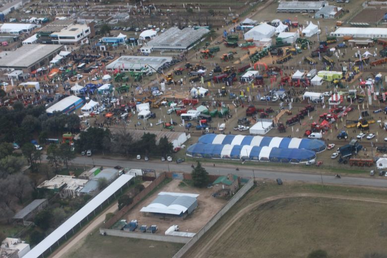
M 196 158 L 244 159 L 282 163 L 305 163 L 316 158 L 311 150 L 269 146 L 195 143 L 188 147 L 187 156 Z

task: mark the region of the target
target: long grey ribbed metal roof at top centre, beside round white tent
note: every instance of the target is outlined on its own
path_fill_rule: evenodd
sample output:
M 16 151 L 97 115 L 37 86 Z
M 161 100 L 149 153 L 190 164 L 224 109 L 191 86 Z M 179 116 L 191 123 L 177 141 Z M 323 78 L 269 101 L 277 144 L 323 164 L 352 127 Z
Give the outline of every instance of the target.
M 154 49 L 187 49 L 208 32 L 205 28 L 180 30 L 178 27 L 172 27 L 149 41 L 147 46 Z

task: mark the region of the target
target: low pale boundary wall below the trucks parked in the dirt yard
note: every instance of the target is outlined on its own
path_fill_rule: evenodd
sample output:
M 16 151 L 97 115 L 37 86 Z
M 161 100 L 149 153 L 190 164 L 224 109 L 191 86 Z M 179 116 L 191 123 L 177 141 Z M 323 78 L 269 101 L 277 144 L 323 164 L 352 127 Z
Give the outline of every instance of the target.
M 151 233 L 135 233 L 135 232 L 128 232 L 124 230 L 106 229 L 106 228 L 100 228 L 99 233 L 101 235 L 106 234 L 108 236 L 115 236 L 115 237 L 139 238 L 139 239 L 181 243 L 181 244 L 187 244 L 188 241 L 190 241 L 191 239 L 191 237 L 165 236 L 165 235 L 151 234 Z

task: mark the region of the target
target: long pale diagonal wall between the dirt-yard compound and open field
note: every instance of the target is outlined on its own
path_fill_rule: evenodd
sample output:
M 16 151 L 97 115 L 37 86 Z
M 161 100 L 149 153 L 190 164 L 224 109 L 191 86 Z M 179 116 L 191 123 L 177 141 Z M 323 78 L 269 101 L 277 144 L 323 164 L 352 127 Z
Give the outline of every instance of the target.
M 182 247 L 174 256 L 173 258 L 181 258 L 183 257 L 188 250 L 207 232 L 211 229 L 211 227 L 232 207 L 234 204 L 242 198 L 243 195 L 247 193 L 254 185 L 254 181 L 252 179 L 249 180 L 249 182 L 244 185 L 238 193 L 236 193 L 231 200 L 218 212 L 216 215 L 206 224 L 204 227 L 202 227 L 197 234 L 191 238 L 187 244 Z

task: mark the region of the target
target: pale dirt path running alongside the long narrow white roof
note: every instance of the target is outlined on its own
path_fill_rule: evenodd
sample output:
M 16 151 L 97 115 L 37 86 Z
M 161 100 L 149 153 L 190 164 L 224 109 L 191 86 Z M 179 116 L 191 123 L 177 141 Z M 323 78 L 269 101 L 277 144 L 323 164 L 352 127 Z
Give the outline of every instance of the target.
M 78 247 L 80 247 L 85 241 L 87 235 L 93 232 L 101 223 L 105 220 L 106 213 L 116 212 L 118 209 L 118 202 L 114 202 L 109 208 L 104 210 L 98 217 L 94 218 L 86 227 L 82 228 L 81 231 L 73 236 L 70 241 L 66 242 L 61 249 L 58 249 L 50 257 L 51 258 L 60 258 L 68 255 L 70 252 L 73 252 Z

